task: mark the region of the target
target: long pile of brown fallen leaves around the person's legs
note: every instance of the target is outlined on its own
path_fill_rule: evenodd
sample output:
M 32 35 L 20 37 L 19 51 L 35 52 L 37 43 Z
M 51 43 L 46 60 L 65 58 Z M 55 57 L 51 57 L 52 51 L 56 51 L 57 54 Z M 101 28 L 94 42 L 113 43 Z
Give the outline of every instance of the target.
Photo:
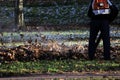
M 0 48 L 0 61 L 36 61 L 36 60 L 62 60 L 62 59 L 88 59 L 88 46 L 75 44 L 66 46 L 57 42 L 46 44 L 29 44 L 14 48 Z M 120 47 L 111 47 L 111 57 L 120 59 Z M 96 51 L 96 58 L 103 58 L 103 48 L 99 47 Z

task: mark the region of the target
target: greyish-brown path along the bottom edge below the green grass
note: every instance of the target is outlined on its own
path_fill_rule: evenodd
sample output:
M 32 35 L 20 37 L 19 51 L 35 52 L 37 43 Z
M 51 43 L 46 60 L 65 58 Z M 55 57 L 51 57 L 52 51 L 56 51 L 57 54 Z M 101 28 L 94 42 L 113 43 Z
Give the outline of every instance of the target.
M 69 80 L 69 79 L 120 79 L 120 74 L 93 74 L 93 73 L 86 73 L 86 74 L 33 74 L 29 76 L 22 76 L 22 77 L 7 77 L 7 78 L 0 78 L 0 80 Z

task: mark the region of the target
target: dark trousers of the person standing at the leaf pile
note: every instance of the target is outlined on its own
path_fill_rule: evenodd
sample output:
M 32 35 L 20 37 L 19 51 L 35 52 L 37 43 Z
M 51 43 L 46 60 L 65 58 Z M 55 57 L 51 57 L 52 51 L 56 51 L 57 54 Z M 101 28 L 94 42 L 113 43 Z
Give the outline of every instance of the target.
M 109 34 L 109 21 L 108 20 L 92 20 L 90 23 L 90 38 L 88 47 L 89 59 L 93 60 L 95 55 L 95 42 L 98 32 L 101 32 L 104 49 L 104 59 L 110 59 L 110 34 Z

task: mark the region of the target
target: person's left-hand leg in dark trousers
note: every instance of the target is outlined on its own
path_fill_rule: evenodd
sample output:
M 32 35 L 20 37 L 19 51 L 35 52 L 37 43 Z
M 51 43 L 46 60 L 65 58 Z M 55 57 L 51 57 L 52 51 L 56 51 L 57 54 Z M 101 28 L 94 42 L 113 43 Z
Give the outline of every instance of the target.
M 99 32 L 99 27 L 97 21 L 92 21 L 90 24 L 90 37 L 89 37 L 89 46 L 88 46 L 88 56 L 90 60 L 94 59 L 95 54 L 95 40 Z

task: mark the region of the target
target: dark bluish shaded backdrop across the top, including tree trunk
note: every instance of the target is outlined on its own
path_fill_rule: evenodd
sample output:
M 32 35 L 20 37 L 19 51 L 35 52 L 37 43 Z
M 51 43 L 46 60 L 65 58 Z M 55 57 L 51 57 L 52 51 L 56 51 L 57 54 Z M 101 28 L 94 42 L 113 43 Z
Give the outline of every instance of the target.
M 120 1 L 112 2 L 120 10 Z M 28 26 L 86 26 L 89 24 L 89 3 L 90 0 L 0 0 L 0 30 Z M 112 25 L 120 26 L 120 13 Z

